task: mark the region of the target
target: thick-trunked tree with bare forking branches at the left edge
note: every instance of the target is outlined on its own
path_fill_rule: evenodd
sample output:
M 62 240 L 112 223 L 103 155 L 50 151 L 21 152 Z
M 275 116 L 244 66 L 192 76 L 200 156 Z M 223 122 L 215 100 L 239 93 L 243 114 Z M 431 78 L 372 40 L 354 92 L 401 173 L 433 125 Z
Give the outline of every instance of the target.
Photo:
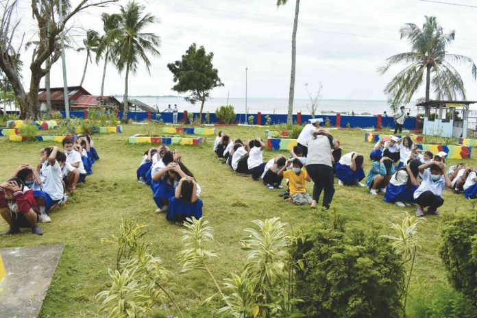
M 65 1 L 62 0 L 64 3 Z M 20 59 L 20 50 L 23 46 L 23 36 L 17 36 L 16 30 L 20 24 L 17 6 L 19 0 L 3 1 L 0 7 L 3 9 L 0 21 L 0 69 L 12 84 L 12 88 L 19 102 L 21 117 L 23 119 L 40 119 L 40 107 L 38 105 L 38 90 L 40 80 L 51 68 L 51 65 L 60 58 L 60 37 L 66 32 L 66 23 L 78 12 L 90 7 L 103 7 L 117 0 L 80 0 L 75 7 L 69 9 L 63 5 L 63 19 L 58 16 L 58 1 L 32 0 L 32 19 L 38 37 L 36 54 L 29 64 L 31 72 L 29 92 L 25 91 L 21 81 L 20 72 L 16 69 L 16 61 Z M 66 4 L 66 3 L 65 3 Z M 30 15 L 26 15 L 28 18 Z M 45 65 L 50 58 L 49 65 Z

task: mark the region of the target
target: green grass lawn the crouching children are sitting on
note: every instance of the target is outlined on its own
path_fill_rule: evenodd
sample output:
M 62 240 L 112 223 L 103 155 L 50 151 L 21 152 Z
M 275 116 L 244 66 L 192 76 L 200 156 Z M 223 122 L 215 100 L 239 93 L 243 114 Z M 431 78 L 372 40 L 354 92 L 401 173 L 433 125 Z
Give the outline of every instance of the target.
M 265 127 L 223 127 L 222 130 L 232 134 L 232 138 L 265 138 Z M 70 197 L 66 208 L 52 213 L 51 223 L 40 224 L 45 235 L 26 233 L 0 238 L 0 247 L 66 244 L 41 317 L 98 316 L 99 304 L 95 295 L 108 287 L 108 267 L 114 267 L 116 254 L 114 246 L 101 243 L 100 239 L 116 234 L 121 217 L 129 216 L 136 216 L 139 223 L 148 225 L 146 239 L 152 244 L 154 254 L 160 256 L 164 266 L 175 273 L 171 291 L 183 312 L 190 317 L 212 316 L 210 308 L 201 307 L 201 302 L 215 293 L 213 283 L 201 272 L 179 273 L 180 266 L 175 260 L 175 254 L 180 249 L 179 227 L 171 225 L 164 215 L 154 213 L 156 206 L 151 190 L 136 181 L 136 169 L 149 145 L 129 145 L 127 137 L 140 132 L 143 128 L 138 125 L 123 125 L 123 134 L 96 134 L 95 147 L 101 159 L 93 167 L 94 174 Z M 333 130 L 332 134 L 341 140 L 343 154 L 360 151 L 365 158 L 369 158 L 372 144 L 364 142 L 365 132 Z M 270 191 L 262 182 L 230 172 L 212 152 L 214 137 L 208 138 L 210 142 L 204 145 L 177 149 L 182 151 L 184 164 L 193 171 L 202 188 L 204 217 L 210 221 L 215 232 L 212 249 L 220 254 L 210 267 L 220 280 L 241 269 L 245 254 L 241 252 L 238 240 L 244 234 L 243 229 L 252 225 L 252 220 L 280 217 L 297 230 L 315 222 L 320 210 L 293 206 L 278 197 L 280 191 Z M 47 143 L 12 143 L 4 137 L 0 138 L 0 180 L 9 178 L 21 163 L 36 165 L 40 159 L 40 148 L 47 146 Z M 264 159 L 269 160 L 276 154 L 276 151 L 267 150 Z M 448 165 L 455 162 L 457 160 L 448 160 Z M 475 158 L 465 162 L 477 166 Z M 369 160 L 366 163 L 369 169 Z M 308 191 L 311 189 L 310 184 Z M 372 228 L 380 225 L 383 234 L 387 233 L 388 222 L 393 221 L 393 217 L 404 215 L 403 208 L 385 203 L 382 195 L 371 197 L 366 188 L 356 187 L 337 186 L 332 208 L 349 217 L 348 227 Z M 469 208 L 470 204 L 463 195 L 445 192 L 445 204 L 441 208 L 443 214 Z M 413 212 L 411 208 L 407 210 Z M 410 295 L 411 299 L 421 301 L 431 297 L 425 291 L 432 284 L 447 284 L 438 254 L 441 218 L 431 216 L 426 219 L 428 222 L 419 228 L 422 249 L 416 260 Z M 3 230 L 7 230 L 7 225 L 0 220 L 0 231 Z M 166 306 L 157 310 L 158 317 L 175 314 L 171 304 Z

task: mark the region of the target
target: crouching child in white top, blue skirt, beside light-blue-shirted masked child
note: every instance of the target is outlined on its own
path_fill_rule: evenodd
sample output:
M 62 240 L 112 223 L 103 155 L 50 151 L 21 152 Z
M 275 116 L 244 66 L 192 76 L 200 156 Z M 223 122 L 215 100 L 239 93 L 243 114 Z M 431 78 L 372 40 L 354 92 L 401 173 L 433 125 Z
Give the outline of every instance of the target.
M 414 203 L 414 192 L 421 184 L 419 180 L 419 160 L 411 160 L 405 167 L 397 170 L 386 188 L 384 201 L 404 208 Z

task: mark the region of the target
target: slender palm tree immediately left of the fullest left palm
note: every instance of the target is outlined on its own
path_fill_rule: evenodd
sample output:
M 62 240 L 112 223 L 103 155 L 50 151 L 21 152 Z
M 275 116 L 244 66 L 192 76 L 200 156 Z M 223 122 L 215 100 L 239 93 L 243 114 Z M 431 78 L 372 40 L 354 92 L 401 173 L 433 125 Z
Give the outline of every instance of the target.
M 104 34 L 99 38 L 99 46 L 96 51 L 96 63 L 99 62 L 104 53 L 104 67 L 103 67 L 103 78 L 101 79 L 101 96 L 104 93 L 104 79 L 106 78 L 106 65 L 108 62 L 114 62 L 114 56 L 112 56 L 112 51 L 110 51 L 114 38 L 111 36 L 111 31 L 117 29 L 120 16 L 119 14 L 101 14 L 101 20 L 103 21 L 103 31 Z

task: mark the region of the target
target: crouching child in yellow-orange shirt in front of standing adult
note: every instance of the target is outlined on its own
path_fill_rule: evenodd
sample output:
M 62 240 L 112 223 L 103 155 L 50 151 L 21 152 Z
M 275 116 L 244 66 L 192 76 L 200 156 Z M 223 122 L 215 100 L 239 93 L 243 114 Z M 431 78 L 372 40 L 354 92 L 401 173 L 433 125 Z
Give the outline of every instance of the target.
M 292 164 L 293 168 L 291 170 L 285 170 L 290 164 Z M 311 178 L 303 167 L 300 160 L 293 158 L 292 160 L 287 160 L 284 167 L 277 173 L 280 177 L 289 180 L 289 200 L 298 206 L 311 204 L 311 201 L 313 201 L 312 197 L 306 192 L 306 182 L 310 182 Z

